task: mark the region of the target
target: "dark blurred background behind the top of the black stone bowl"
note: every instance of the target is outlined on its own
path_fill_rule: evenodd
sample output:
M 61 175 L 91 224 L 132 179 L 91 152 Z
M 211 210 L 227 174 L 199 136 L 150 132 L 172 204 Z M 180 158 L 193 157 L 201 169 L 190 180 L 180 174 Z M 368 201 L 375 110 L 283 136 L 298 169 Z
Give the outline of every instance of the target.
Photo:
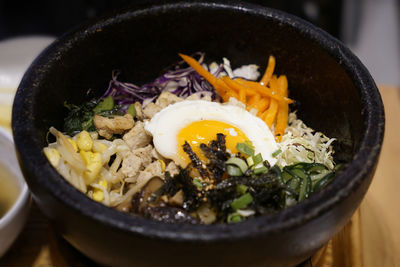
M 0 41 L 23 35 L 57 37 L 129 0 L 0 0 Z M 160 1 L 158 1 L 160 2 Z M 161 2 L 168 2 L 167 0 Z M 249 0 L 300 16 L 346 43 L 379 84 L 400 85 L 397 0 Z M 1 57 L 0 57 L 1 61 Z

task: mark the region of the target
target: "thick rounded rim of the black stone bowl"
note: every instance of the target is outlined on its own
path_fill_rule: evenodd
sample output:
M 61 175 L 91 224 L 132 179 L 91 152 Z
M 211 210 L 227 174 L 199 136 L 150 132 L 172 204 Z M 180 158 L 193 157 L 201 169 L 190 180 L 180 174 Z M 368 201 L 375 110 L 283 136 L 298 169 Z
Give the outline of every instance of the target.
M 286 27 L 301 34 L 304 38 L 308 38 L 319 45 L 333 57 L 336 62 L 344 67 L 347 75 L 359 90 L 362 102 L 364 103 L 362 106 L 362 115 L 364 117 L 365 132 L 360 140 L 359 148 L 354 158 L 347 168 L 321 191 L 324 192 L 324 194 L 318 192 L 305 201 L 294 207 L 289 207 L 276 215 L 261 216 L 239 224 L 167 224 L 155 222 L 139 216 L 124 214 L 87 198 L 63 179 L 61 175 L 52 168 L 50 163 L 47 162 L 42 148 L 39 146 L 38 141 L 35 140 L 36 135 L 33 122 L 22 115 L 26 112 L 26 109 L 33 110 L 32 105 L 26 105 L 23 99 L 32 97 L 34 94 L 34 92 L 29 92 L 29 90 L 32 90 L 30 83 L 38 78 L 34 77 L 35 68 L 45 66 L 46 63 L 48 64 L 48 62 L 54 60 L 53 56 L 55 54 L 63 52 L 63 44 L 74 42 L 79 38 L 84 38 L 87 33 L 95 34 L 96 30 L 106 27 L 113 22 L 119 23 L 124 20 L 129 20 L 129 18 L 134 16 L 146 16 L 161 10 L 167 12 L 168 10 L 181 9 L 183 7 L 213 8 L 244 12 L 253 16 L 262 16 L 277 23 L 282 23 Z M 40 75 L 42 75 L 42 73 L 40 73 Z M 371 75 L 359 59 L 339 40 L 311 23 L 283 11 L 250 3 L 232 4 L 215 1 L 196 1 L 193 3 L 176 2 L 154 5 L 138 10 L 128 10 L 122 13 L 116 13 L 114 16 L 98 19 L 94 23 L 83 25 L 63 35 L 43 51 L 25 73 L 15 97 L 12 116 L 14 139 L 20 161 L 23 162 L 23 168 L 34 173 L 34 176 L 40 181 L 42 186 L 45 187 L 54 198 L 96 222 L 115 227 L 126 233 L 171 241 L 196 242 L 237 240 L 257 237 L 260 233 L 271 234 L 294 228 L 326 213 L 334 205 L 343 201 L 351 192 L 355 191 L 361 184 L 361 181 L 366 179 L 368 173 L 373 171 L 382 146 L 385 124 L 382 100 Z M 29 155 L 24 153 L 27 147 L 31 152 L 35 153 Z M 361 156 L 364 157 L 364 159 L 361 160 Z M 43 168 L 37 168 L 35 165 L 43 166 Z M 42 177 L 46 177 L 47 181 L 44 181 Z M 49 177 L 52 179 L 48 179 Z M 296 216 L 299 214 L 300 216 Z

